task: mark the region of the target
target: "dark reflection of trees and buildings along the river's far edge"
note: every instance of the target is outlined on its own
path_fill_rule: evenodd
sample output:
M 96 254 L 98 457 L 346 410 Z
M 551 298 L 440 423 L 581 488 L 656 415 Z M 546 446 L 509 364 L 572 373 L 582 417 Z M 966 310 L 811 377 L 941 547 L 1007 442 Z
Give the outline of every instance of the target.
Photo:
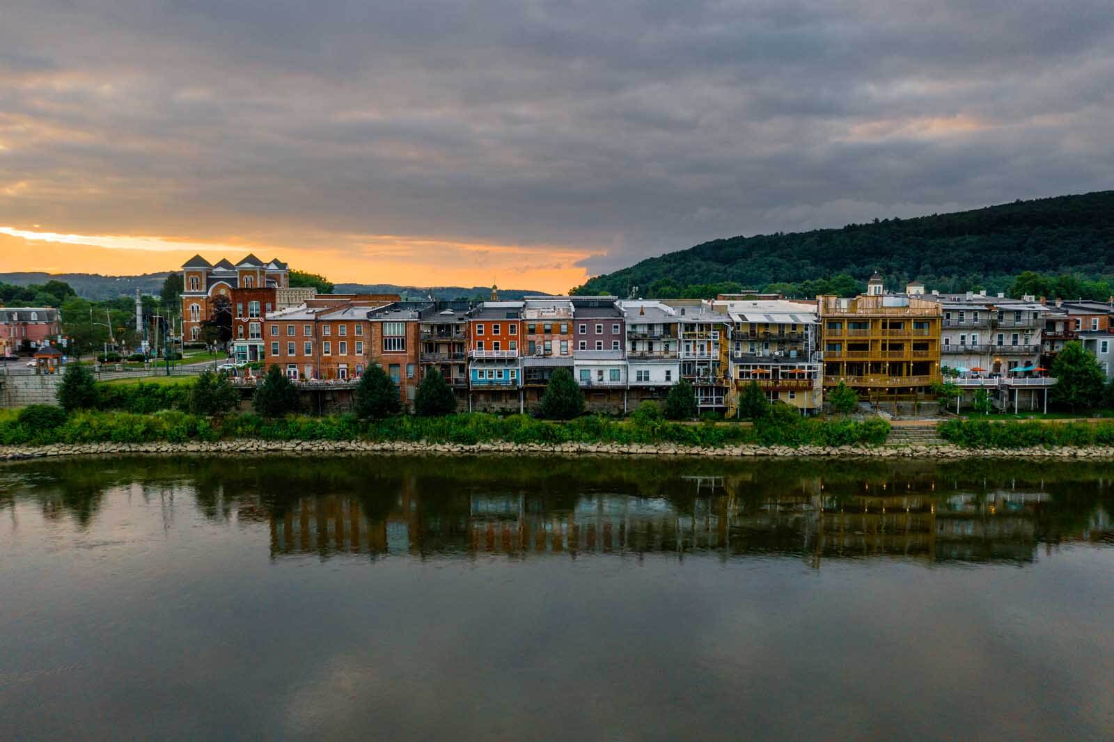
M 0 470 L 0 505 L 35 498 L 88 527 L 106 492 L 188 495 L 216 523 L 270 530 L 273 558 L 694 553 L 731 559 L 1034 559 L 1111 540 L 1114 467 L 1018 462 L 119 459 Z

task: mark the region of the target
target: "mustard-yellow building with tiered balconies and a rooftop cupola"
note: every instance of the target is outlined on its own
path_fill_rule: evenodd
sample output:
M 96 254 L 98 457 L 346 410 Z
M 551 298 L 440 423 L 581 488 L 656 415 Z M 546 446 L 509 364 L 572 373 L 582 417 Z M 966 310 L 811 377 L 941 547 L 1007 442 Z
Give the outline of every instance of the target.
M 871 289 L 854 299 L 817 297 L 824 387 L 843 381 L 869 400 L 928 394 L 940 380 L 940 305 L 886 294 L 880 282 Z

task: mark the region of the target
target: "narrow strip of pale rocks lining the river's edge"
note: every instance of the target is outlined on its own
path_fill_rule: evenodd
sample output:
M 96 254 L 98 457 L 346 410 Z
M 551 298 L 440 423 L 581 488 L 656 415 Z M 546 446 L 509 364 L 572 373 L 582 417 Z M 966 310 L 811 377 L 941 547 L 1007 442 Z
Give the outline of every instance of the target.
M 53 443 L 50 446 L 0 446 L 0 460 L 25 460 L 77 456 L 131 455 L 216 455 L 252 456 L 328 456 L 335 453 L 472 456 L 483 453 L 549 455 L 549 456 L 701 456 L 762 458 L 837 458 L 837 459 L 1114 459 L 1114 447 L 1061 447 L 1022 449 L 971 449 L 959 446 L 725 446 L 701 448 L 673 443 L 428 443 L 424 441 L 361 440 L 228 440 L 217 442 L 152 442 L 152 443 Z

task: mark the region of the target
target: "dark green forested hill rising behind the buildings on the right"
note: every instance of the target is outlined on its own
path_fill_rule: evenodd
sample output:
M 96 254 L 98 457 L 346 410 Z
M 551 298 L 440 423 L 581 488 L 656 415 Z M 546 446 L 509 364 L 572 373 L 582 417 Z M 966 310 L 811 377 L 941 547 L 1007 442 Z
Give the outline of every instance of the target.
M 1017 201 L 955 214 L 849 224 L 752 237 L 714 240 L 596 276 L 577 293 L 672 297 L 723 289 L 822 286 L 849 274 L 854 283 L 879 271 L 889 285 L 919 279 L 929 289 L 1006 290 L 1025 271 L 1114 274 L 1114 191 Z M 843 283 L 850 283 L 847 275 Z M 701 284 L 704 284 L 703 286 Z M 795 284 L 795 285 L 786 285 Z

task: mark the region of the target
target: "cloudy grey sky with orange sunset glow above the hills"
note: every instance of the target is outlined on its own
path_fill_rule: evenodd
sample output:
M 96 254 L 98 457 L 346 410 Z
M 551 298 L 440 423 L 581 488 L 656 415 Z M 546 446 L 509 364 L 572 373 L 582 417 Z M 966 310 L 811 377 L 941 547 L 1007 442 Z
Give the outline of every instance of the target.
M 0 272 L 565 291 L 1114 187 L 1110 0 L 6 0 Z

